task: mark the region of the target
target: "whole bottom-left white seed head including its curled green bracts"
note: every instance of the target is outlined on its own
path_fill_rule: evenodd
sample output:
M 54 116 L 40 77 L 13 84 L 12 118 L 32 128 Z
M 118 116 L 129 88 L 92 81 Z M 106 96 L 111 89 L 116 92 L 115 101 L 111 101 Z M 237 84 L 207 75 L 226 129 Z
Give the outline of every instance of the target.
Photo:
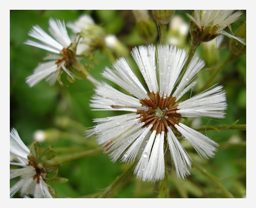
M 33 196 L 34 198 L 53 198 L 55 191 L 46 182 L 48 172 L 55 171 L 54 168 L 46 167 L 37 152 L 34 143 L 31 150 L 23 143 L 16 129 L 10 132 L 10 165 L 21 168 L 10 169 L 10 179 L 20 177 L 20 180 L 10 188 L 10 198 L 20 190 L 21 196 Z M 14 160 L 14 161 L 13 161 Z

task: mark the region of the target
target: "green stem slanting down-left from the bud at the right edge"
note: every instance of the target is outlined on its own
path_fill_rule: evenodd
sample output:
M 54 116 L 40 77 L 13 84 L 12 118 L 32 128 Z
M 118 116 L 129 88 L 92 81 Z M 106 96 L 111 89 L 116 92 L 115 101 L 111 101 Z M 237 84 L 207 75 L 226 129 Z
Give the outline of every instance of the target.
M 218 69 L 214 70 L 208 81 L 205 83 L 205 85 L 199 90 L 199 92 L 202 92 L 209 87 L 213 85 L 213 83 L 216 80 L 216 77 L 219 75 L 219 73 L 232 61 L 235 57 L 232 53 L 229 53 L 226 57 L 226 59 L 222 62 L 222 64 L 219 66 Z

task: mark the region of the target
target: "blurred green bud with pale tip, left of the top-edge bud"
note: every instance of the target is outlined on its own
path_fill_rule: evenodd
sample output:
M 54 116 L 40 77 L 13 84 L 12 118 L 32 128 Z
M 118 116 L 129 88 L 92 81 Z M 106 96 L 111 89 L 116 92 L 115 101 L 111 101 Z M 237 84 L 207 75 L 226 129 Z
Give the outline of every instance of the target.
M 139 35 L 146 43 L 154 42 L 158 36 L 156 22 L 150 18 L 147 10 L 133 10 L 133 13 Z

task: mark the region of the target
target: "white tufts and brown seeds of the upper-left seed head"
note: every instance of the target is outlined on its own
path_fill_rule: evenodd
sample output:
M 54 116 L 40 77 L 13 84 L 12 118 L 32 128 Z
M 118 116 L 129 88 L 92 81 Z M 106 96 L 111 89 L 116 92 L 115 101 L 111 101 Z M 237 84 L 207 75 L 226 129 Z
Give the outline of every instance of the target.
M 34 73 L 26 78 L 26 83 L 29 84 L 30 87 L 34 87 L 42 79 L 46 79 L 50 85 L 53 85 L 58 79 L 58 76 L 60 76 L 62 70 L 73 78 L 68 70 L 68 66 L 72 64 L 72 60 L 67 54 L 67 47 L 69 47 L 72 42 L 67 34 L 65 23 L 60 20 L 50 19 L 49 31 L 53 38 L 45 33 L 45 31 L 38 25 L 33 26 L 32 30 L 29 32 L 29 36 L 40 42 L 32 40 L 27 40 L 25 42 L 25 44 L 57 54 L 46 57 L 45 60 L 51 61 L 41 63 L 34 69 Z

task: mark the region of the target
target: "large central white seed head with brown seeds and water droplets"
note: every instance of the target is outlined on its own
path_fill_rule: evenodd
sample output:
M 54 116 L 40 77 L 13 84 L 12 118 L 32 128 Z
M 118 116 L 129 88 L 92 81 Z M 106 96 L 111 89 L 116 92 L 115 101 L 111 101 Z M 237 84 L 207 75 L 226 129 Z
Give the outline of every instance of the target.
M 94 119 L 98 125 L 88 130 L 87 134 L 96 135 L 98 144 L 103 146 L 112 161 L 137 160 L 134 174 L 142 180 L 152 182 L 164 178 L 164 143 L 168 143 L 177 177 L 185 178 L 189 175 L 191 159 L 172 128 L 176 129 L 183 139 L 187 139 L 200 156 L 206 159 L 213 157 L 218 144 L 180 123 L 178 118 L 223 118 L 227 107 L 225 92 L 222 86 L 213 86 L 177 103 L 197 83 L 194 78 L 205 65 L 204 62 L 194 57 L 178 83 L 187 60 L 185 50 L 168 45 L 158 46 L 157 69 L 156 48 L 153 45 L 135 47 L 131 54 L 142 73 L 148 91 L 124 58 L 113 64 L 114 69 L 106 67 L 102 73 L 103 77 L 135 97 L 126 95 L 103 82 L 95 89 L 90 106 L 94 110 L 132 113 Z

